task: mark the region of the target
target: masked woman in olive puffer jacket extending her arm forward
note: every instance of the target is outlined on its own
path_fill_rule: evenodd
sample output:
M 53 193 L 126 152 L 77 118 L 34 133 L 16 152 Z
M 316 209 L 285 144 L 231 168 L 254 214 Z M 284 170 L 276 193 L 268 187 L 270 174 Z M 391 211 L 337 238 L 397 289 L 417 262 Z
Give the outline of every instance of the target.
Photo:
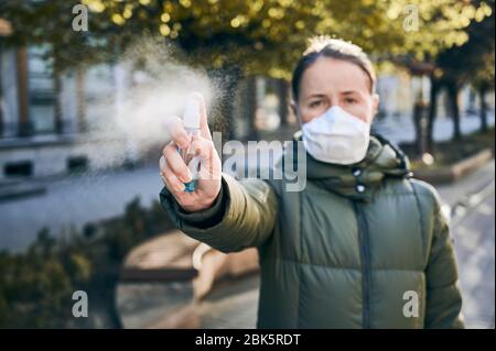
M 223 252 L 256 246 L 259 328 L 462 328 L 449 227 L 436 191 L 411 178 L 408 160 L 370 135 L 376 76 L 356 45 L 319 37 L 300 59 L 292 108 L 302 130 L 306 186 L 236 180 L 220 173 L 203 108 L 192 142 L 198 188 L 176 145 L 164 147 L 161 204 L 177 228 Z M 288 150 L 287 152 L 291 152 Z

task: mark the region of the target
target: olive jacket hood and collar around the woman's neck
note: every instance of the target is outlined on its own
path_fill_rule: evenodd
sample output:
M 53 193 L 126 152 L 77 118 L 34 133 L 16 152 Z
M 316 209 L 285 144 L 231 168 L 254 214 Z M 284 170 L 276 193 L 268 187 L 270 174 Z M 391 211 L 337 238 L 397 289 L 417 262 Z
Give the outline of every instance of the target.
M 293 140 L 302 140 L 301 130 L 294 133 Z M 369 200 L 385 178 L 410 176 L 408 157 L 378 134 L 370 135 L 364 160 L 352 165 L 324 163 L 306 152 L 308 180 L 351 199 Z

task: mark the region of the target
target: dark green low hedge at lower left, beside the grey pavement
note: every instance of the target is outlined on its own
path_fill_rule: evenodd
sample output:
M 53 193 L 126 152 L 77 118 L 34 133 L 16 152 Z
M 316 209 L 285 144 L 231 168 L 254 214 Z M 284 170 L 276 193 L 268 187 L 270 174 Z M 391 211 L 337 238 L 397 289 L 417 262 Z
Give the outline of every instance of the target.
M 96 224 L 96 238 L 72 229 L 55 239 L 42 229 L 25 252 L 0 252 L 0 328 L 77 327 L 73 293 L 83 289 L 96 298 L 112 298 L 101 292 L 114 290 L 129 250 L 157 234 L 154 228 L 170 228 L 159 206 L 148 211 L 136 198 L 122 218 Z M 111 309 L 114 301 L 101 305 Z

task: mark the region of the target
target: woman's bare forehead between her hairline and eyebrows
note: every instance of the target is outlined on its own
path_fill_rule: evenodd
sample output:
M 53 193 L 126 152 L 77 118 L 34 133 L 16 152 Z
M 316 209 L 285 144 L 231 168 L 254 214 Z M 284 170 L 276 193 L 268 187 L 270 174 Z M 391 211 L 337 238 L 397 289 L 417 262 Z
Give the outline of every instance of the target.
M 369 78 L 354 63 L 320 57 L 305 69 L 300 89 L 302 97 L 330 91 L 369 92 Z

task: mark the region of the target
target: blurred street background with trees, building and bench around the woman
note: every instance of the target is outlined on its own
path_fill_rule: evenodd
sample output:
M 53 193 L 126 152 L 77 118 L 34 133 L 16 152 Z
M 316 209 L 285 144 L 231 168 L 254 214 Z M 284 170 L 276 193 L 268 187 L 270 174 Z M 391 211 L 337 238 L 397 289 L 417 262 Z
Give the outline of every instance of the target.
M 200 90 L 223 142 L 290 140 L 292 68 L 309 37 L 330 35 L 370 55 L 373 128 L 439 189 L 466 326 L 494 328 L 494 11 L 489 0 L 2 0 L 0 327 L 254 328 L 256 251 L 200 244 L 158 202 L 164 122 Z M 74 314 L 76 290 L 87 317 Z

